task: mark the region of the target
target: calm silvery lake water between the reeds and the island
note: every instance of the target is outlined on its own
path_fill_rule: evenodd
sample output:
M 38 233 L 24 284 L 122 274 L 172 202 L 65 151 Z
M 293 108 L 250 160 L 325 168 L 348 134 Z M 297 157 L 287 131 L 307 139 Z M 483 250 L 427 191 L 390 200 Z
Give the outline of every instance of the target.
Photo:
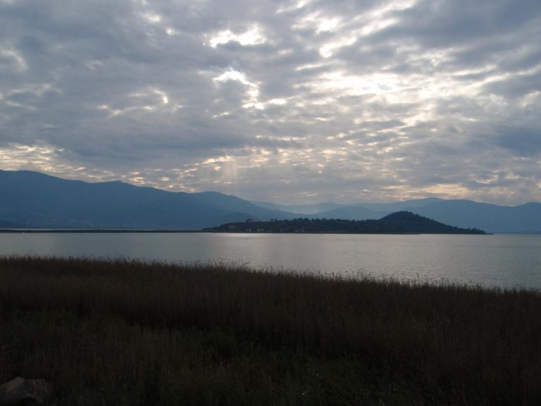
M 0 255 L 6 254 L 225 261 L 541 289 L 541 235 L 3 233 Z

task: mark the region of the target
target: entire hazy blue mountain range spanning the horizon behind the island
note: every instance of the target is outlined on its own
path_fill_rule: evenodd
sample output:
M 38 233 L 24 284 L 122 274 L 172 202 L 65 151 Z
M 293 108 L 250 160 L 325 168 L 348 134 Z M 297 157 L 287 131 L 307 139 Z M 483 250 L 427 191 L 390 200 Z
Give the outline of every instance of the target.
M 411 211 L 460 228 L 489 233 L 541 232 L 541 204 L 507 207 L 437 198 L 392 203 L 280 205 L 218 192 L 166 192 L 119 181 L 87 183 L 33 171 L 0 170 L 0 228 L 199 230 L 270 219 L 381 219 Z

